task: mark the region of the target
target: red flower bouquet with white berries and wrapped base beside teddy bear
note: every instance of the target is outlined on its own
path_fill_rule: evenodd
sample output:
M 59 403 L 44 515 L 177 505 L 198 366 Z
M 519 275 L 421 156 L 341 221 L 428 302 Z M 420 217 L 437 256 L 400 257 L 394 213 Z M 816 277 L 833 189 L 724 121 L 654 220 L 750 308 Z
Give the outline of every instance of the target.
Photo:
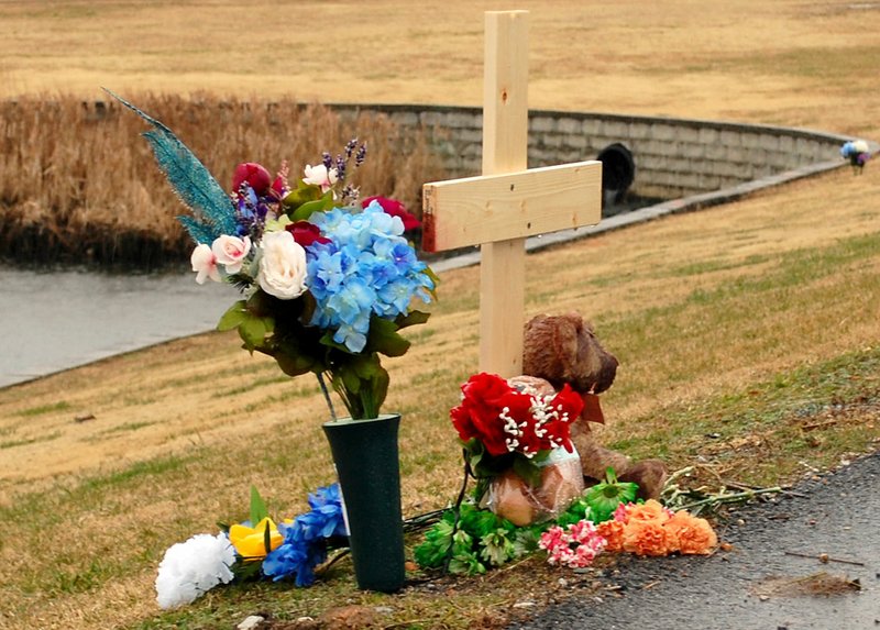
M 564 511 L 583 491 L 570 431 L 582 409 L 569 385 L 542 391 L 527 378 L 472 376 L 450 416 L 481 505 L 516 526 Z

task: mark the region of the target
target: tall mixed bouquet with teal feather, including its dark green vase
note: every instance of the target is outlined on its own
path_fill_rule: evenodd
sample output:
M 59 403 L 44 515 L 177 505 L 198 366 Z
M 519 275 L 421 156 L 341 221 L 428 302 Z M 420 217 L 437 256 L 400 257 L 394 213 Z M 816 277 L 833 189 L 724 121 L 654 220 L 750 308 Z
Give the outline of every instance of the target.
M 389 382 L 381 355 L 406 353 L 399 331 L 428 319 L 413 301 L 435 297 L 437 277 L 404 236 L 415 218 L 391 200 L 359 202 L 346 183 L 366 156 L 358 140 L 336 157 L 324 153 L 295 183 L 286 165 L 273 178 L 258 164 L 240 164 L 228 194 L 168 128 L 110 93 L 151 125 L 144 136 L 191 211 L 178 219 L 196 242 L 196 281 L 226 281 L 243 294 L 218 329 L 237 330 L 245 350 L 272 356 L 285 374 L 317 376 L 359 585 L 398 589 L 399 416 L 380 413 Z M 327 380 L 348 418 L 337 417 Z

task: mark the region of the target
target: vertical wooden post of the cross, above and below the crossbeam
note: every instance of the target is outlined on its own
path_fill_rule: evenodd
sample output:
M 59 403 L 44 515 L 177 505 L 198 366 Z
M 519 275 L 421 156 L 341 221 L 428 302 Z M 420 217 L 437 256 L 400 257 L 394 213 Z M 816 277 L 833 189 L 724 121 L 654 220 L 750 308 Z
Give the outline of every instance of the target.
M 486 13 L 483 175 L 528 163 L 528 11 Z M 522 372 L 525 239 L 481 245 L 480 369 Z

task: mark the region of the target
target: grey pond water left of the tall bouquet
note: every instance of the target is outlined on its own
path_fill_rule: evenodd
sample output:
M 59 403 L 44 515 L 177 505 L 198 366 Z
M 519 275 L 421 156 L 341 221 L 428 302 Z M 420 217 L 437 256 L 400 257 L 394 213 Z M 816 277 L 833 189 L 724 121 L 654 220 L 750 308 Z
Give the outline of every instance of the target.
M 237 299 L 187 270 L 0 270 L 0 387 L 212 330 Z

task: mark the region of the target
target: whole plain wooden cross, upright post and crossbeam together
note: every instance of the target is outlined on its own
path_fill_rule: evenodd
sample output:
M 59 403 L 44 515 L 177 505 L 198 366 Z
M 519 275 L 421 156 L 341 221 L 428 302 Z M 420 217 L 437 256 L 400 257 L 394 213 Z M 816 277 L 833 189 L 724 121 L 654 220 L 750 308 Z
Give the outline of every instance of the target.
M 422 247 L 480 245 L 480 371 L 522 372 L 527 236 L 602 219 L 602 163 L 527 170 L 528 11 L 486 12 L 483 175 L 426 184 Z

